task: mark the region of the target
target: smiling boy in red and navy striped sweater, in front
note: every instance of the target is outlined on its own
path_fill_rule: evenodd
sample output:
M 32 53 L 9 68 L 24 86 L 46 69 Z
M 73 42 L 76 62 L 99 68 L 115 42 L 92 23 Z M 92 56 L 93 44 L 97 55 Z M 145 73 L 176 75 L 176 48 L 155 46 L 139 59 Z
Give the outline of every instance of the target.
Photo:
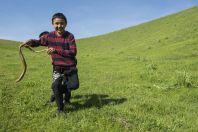
M 79 87 L 76 60 L 76 43 L 73 34 L 66 31 L 67 19 L 62 13 L 52 17 L 55 31 L 44 35 L 39 40 L 30 39 L 25 43 L 31 47 L 47 46 L 47 53 L 51 55 L 53 65 L 53 92 L 58 106 L 58 113 L 63 112 L 63 92 L 66 99 L 70 98 L 70 91 Z M 64 86 L 64 88 L 62 87 Z

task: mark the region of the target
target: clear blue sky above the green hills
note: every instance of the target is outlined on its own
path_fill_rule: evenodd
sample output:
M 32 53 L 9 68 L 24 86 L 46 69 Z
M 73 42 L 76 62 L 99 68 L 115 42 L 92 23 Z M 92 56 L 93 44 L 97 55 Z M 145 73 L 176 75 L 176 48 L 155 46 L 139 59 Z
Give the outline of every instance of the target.
M 57 12 L 76 39 L 106 34 L 198 5 L 198 0 L 1 0 L 0 39 L 38 39 Z

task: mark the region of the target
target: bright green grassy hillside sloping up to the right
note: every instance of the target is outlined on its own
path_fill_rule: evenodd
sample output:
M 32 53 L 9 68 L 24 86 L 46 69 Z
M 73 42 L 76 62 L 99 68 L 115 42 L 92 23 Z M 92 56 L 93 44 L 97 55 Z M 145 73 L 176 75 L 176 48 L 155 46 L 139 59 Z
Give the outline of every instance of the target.
M 0 40 L 2 131 L 198 131 L 198 7 L 106 35 L 80 39 L 80 88 L 56 117 L 45 53 Z

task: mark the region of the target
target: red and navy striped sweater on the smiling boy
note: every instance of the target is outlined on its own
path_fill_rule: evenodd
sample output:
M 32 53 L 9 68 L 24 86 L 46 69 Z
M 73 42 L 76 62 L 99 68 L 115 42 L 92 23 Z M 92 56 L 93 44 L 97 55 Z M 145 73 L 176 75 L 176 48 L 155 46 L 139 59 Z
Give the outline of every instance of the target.
M 29 45 L 31 47 L 47 46 L 54 48 L 57 52 L 51 54 L 52 65 L 54 66 L 73 67 L 77 65 L 75 38 L 68 31 L 65 31 L 61 37 L 56 35 L 56 31 L 50 32 L 39 40 L 32 40 Z

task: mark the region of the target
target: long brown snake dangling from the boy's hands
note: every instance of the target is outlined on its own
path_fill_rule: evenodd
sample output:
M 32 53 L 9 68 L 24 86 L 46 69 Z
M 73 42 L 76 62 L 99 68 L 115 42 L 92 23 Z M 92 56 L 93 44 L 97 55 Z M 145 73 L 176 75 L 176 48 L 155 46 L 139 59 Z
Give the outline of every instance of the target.
M 48 49 L 43 49 L 43 50 L 35 51 L 29 45 L 27 45 L 26 43 L 21 44 L 19 46 L 19 56 L 20 56 L 21 62 L 23 64 L 23 71 L 22 71 L 21 75 L 19 76 L 19 78 L 16 80 L 16 82 L 20 82 L 23 79 L 23 77 L 24 77 L 24 75 L 26 73 L 26 70 L 27 70 L 27 64 L 26 64 L 25 57 L 24 57 L 23 52 L 22 52 L 22 48 L 23 47 L 26 47 L 30 51 L 35 52 L 35 53 L 40 53 L 40 52 L 43 52 L 43 51 L 47 51 L 48 50 Z

